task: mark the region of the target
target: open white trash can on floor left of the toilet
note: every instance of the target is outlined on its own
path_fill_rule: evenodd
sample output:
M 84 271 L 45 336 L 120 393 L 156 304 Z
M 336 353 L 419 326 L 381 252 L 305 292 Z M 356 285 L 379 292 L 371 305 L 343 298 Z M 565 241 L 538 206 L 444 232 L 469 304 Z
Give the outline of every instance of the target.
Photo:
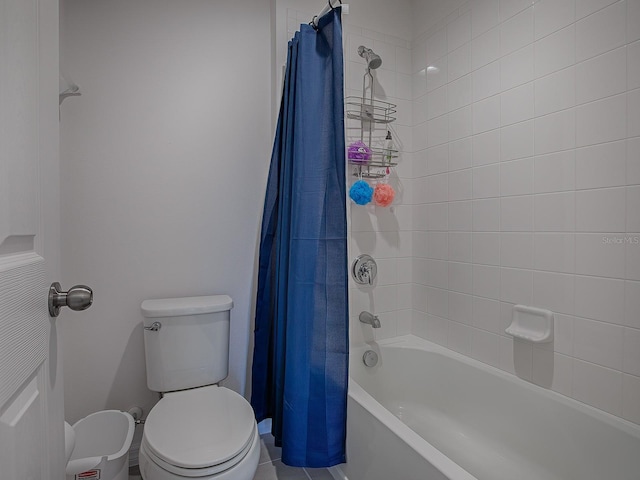
M 127 480 L 133 417 L 119 410 L 103 410 L 73 425 L 75 446 L 67 462 L 66 480 Z

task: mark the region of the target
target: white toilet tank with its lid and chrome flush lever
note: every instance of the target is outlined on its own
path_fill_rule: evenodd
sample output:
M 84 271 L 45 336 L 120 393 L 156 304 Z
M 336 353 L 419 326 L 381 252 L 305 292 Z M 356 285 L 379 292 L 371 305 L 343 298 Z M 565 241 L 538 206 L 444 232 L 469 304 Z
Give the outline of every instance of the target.
M 172 392 L 223 380 L 229 372 L 232 307 L 227 295 L 142 302 L 149 389 Z

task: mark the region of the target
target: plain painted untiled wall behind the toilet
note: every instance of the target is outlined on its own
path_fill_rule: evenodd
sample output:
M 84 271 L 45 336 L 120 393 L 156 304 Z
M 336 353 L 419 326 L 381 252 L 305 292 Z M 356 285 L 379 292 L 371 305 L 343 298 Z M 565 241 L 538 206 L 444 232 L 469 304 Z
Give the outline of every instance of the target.
M 270 6 L 263 0 L 65 0 L 61 109 L 67 419 L 141 405 L 140 302 L 227 293 L 230 375 L 244 392 L 254 263 L 271 152 Z M 185 346 L 188 348 L 188 346 Z

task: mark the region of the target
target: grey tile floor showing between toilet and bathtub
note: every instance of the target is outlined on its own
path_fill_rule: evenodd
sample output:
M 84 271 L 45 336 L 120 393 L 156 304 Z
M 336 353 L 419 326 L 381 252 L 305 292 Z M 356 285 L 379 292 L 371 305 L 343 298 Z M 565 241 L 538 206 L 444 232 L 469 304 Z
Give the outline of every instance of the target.
M 265 433 L 260 437 L 260 461 L 254 480 L 333 480 L 326 468 L 295 468 L 280 461 L 279 447 L 273 436 Z M 129 480 L 142 480 L 137 467 L 129 469 Z

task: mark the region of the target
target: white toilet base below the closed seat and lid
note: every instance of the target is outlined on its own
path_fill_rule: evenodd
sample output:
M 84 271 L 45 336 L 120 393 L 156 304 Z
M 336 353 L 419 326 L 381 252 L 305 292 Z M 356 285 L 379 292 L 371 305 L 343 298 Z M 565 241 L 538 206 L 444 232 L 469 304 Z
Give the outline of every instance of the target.
M 260 460 L 260 436 L 255 435 L 247 455 L 233 467 L 204 477 L 183 476 L 167 472 L 149 458 L 144 444 L 140 446 L 140 475 L 144 480 L 253 480 Z

